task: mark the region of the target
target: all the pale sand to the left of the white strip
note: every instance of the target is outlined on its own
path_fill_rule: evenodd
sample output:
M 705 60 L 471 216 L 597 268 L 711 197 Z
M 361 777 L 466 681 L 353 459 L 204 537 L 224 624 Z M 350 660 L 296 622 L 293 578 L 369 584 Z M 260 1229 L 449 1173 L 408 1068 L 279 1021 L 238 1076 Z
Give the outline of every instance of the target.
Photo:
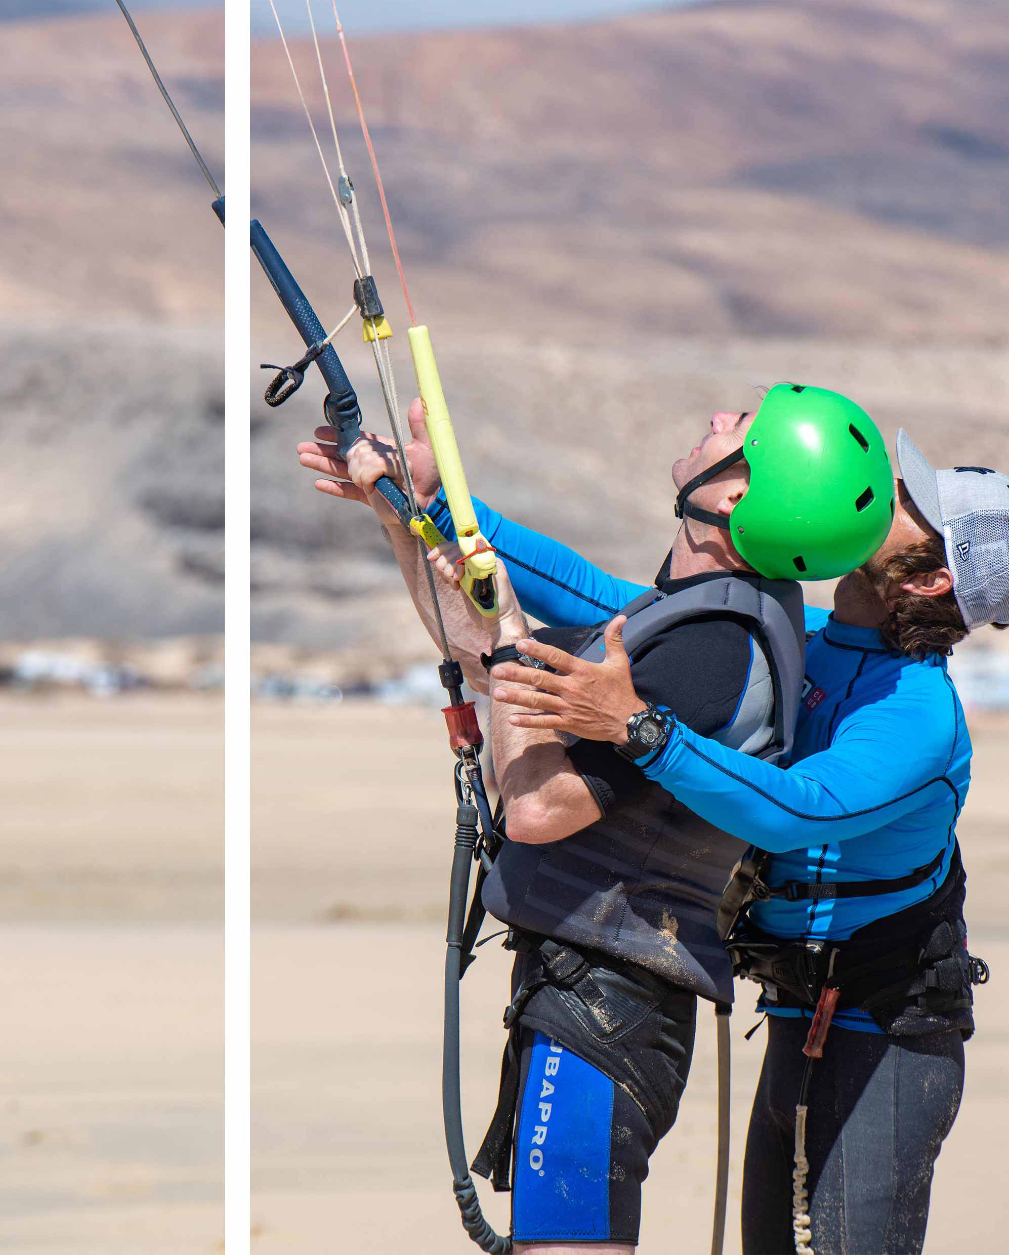
M 222 1250 L 221 705 L 0 699 L 0 1249 Z

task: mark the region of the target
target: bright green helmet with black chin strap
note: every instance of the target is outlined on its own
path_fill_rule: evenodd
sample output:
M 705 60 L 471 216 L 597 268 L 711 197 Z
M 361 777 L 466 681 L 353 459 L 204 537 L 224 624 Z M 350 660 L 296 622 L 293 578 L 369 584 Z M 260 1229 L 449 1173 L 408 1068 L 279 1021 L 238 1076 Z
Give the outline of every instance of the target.
M 725 520 L 686 499 L 740 459 L 749 489 Z M 772 580 L 830 580 L 861 566 L 894 521 L 894 473 L 878 428 L 841 393 L 777 384 L 738 453 L 685 484 L 678 515 L 728 528 L 737 552 Z

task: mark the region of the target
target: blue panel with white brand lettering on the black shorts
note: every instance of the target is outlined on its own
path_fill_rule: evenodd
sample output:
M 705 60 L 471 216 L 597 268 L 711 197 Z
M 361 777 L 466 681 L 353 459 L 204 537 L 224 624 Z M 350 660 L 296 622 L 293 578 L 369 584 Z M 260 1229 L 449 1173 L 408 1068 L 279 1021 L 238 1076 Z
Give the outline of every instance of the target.
M 610 1236 L 614 1083 L 537 1033 L 516 1133 L 520 1241 Z

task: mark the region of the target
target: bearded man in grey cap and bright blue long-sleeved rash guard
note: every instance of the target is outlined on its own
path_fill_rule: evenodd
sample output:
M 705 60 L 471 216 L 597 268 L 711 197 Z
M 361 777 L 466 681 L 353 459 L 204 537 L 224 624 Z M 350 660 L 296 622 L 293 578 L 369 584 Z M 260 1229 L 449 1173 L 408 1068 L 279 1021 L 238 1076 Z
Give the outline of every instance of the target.
M 739 754 L 679 720 L 636 759 L 648 779 L 758 847 L 719 920 L 728 935 L 752 901 L 729 953 L 761 981 L 769 1013 L 743 1181 L 747 1255 L 806 1250 L 809 1229 L 817 1255 L 921 1251 L 935 1160 L 963 1092 L 971 983 L 986 979 L 966 950 L 955 828 L 971 750 L 945 655 L 976 628 L 1009 624 L 1009 478 L 984 467 L 936 472 L 906 432 L 897 462 L 886 542 L 837 586 L 832 615 L 807 611 L 817 630 L 792 766 Z M 570 561 L 565 572 L 577 579 Z M 508 710 L 555 712 L 516 717 L 532 729 L 624 744 L 649 694 L 634 693 L 619 620 L 606 638 L 606 660 L 591 673 L 520 641 L 561 674 L 502 668 L 511 683 L 494 695 Z M 814 1064 L 807 1047 L 823 1050 Z M 804 1147 L 797 1107 L 808 1108 Z

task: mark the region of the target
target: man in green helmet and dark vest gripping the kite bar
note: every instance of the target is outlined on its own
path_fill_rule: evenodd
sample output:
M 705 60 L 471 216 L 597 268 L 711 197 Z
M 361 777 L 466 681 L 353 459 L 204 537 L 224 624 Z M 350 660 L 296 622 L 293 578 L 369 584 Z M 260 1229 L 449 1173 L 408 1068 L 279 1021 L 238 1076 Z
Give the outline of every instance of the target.
M 418 420 L 414 409 L 414 483 L 433 493 Z M 306 466 L 353 478 L 324 491 L 371 501 L 430 625 L 424 560 L 368 493 L 397 471 L 388 451 L 363 441 L 349 468 L 319 446 L 300 452 Z M 787 478 L 788 467 L 802 474 Z M 819 389 L 782 387 L 755 415 L 715 414 L 673 476 L 690 527 L 673 542 L 656 587 L 625 607 L 634 680 L 653 703 L 629 744 L 617 754 L 570 745 L 493 708 L 510 840 L 483 901 L 510 925 L 517 960 L 498 1108 L 474 1168 L 506 1188 L 513 1158 L 512 1231 L 522 1250 L 634 1247 L 648 1161 L 686 1083 L 697 996 L 732 999 L 715 909 L 742 842 L 693 816 L 627 758 L 663 732 L 666 712 L 745 754 L 786 756 L 802 684 L 802 596 L 797 584 L 758 572 L 778 575 L 782 555 L 789 572 L 809 577 L 855 566 L 891 520 L 878 432 L 858 407 Z M 798 555 L 778 508 L 786 498 L 809 520 Z M 488 666 L 515 658 L 527 634 L 503 574 L 499 597 L 502 612 L 489 622 L 476 610 L 471 617 L 464 599 L 444 597 L 453 651 L 483 690 L 481 655 Z M 551 639 L 601 656 L 602 626 Z

